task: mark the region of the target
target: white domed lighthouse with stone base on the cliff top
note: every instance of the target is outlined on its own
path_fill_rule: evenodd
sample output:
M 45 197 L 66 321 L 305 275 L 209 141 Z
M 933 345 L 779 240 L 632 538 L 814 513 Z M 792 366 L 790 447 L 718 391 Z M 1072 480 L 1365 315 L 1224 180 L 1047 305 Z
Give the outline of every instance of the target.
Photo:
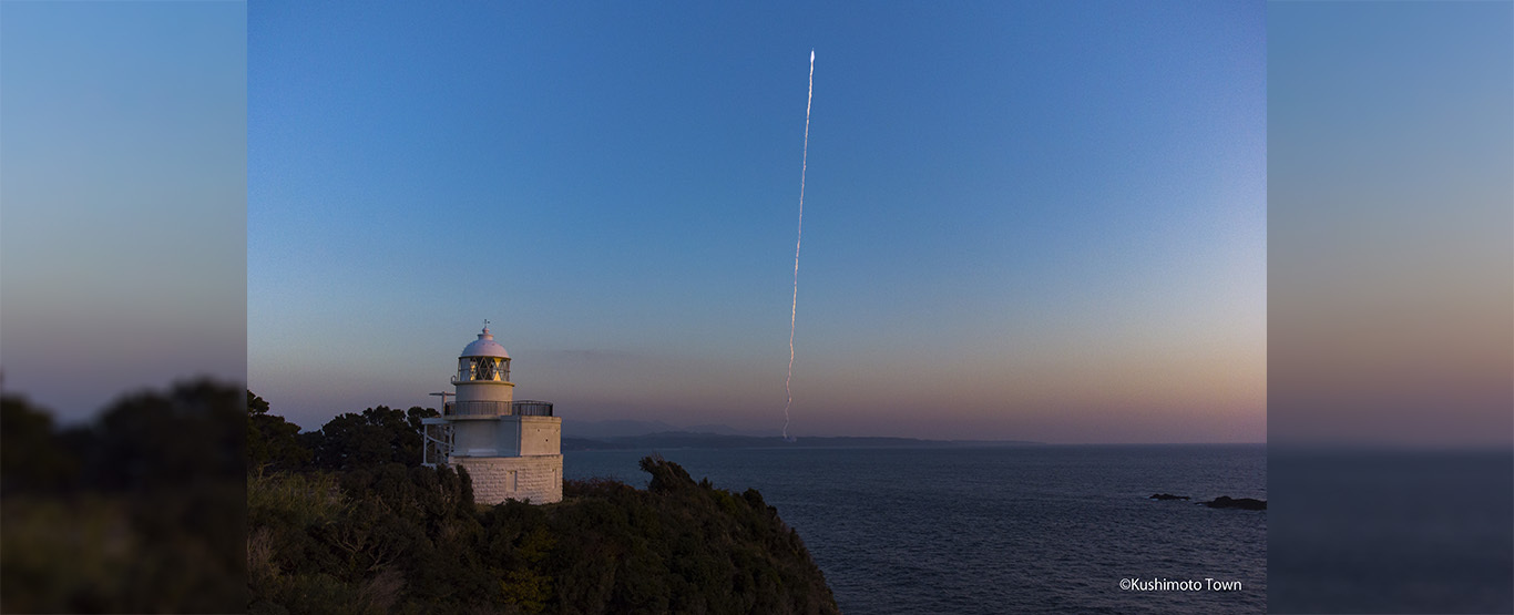
M 562 501 L 562 418 L 548 401 L 515 401 L 510 354 L 483 333 L 463 348 L 453 377 L 457 398 L 425 423 L 425 465 L 468 468 L 474 501 Z

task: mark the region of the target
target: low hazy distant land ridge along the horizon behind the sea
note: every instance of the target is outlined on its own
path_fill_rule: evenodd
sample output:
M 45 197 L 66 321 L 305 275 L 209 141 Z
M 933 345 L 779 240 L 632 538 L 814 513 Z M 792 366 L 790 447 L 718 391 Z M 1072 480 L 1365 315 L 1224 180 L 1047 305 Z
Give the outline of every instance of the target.
M 630 423 L 630 421 L 627 421 Z M 563 436 L 562 450 L 640 450 L 640 448 L 952 448 L 1025 447 L 1033 441 L 919 439 L 886 436 L 815 436 L 784 441 L 781 436 L 748 436 L 709 432 L 656 432 L 631 436 Z

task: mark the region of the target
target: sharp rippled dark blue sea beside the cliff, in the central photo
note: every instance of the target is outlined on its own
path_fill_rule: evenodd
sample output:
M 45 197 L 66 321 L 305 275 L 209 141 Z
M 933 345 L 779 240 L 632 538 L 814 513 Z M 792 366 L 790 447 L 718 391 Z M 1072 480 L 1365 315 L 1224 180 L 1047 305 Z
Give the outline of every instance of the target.
M 568 451 L 563 473 L 645 486 L 650 453 Z M 1266 500 L 1261 444 L 660 453 L 695 480 L 762 491 L 842 612 L 1267 609 L 1267 512 L 1198 504 Z

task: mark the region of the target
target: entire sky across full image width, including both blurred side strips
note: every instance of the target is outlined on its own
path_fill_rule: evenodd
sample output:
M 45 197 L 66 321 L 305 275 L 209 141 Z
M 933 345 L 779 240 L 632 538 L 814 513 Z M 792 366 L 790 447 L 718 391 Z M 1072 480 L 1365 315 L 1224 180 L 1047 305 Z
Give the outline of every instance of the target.
M 0 386 L 1514 442 L 1509 3 L 0 3 Z

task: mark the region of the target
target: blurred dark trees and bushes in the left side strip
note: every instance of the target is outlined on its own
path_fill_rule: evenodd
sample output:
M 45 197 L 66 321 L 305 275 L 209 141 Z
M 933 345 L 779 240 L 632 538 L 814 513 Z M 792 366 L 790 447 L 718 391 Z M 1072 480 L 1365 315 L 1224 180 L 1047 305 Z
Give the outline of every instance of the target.
M 244 609 L 242 395 L 182 382 L 79 424 L 0 395 L 0 612 Z

